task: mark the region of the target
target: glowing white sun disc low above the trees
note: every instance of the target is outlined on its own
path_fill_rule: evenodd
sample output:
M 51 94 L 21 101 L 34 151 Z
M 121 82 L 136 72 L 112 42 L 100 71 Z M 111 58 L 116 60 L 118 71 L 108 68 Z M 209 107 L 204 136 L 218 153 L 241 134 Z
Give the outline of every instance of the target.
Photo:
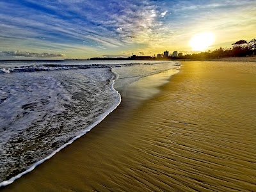
M 215 37 L 213 33 L 198 33 L 191 38 L 189 46 L 192 47 L 193 51 L 205 51 L 213 44 L 214 40 Z

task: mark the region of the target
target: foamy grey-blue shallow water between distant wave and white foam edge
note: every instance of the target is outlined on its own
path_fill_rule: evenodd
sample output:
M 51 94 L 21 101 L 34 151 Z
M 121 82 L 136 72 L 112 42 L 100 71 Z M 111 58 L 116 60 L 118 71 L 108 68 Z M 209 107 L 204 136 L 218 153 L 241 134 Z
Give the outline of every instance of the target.
M 116 106 L 119 95 L 109 79 L 114 79 L 109 68 L 2 75 L 1 180 L 89 131 Z

